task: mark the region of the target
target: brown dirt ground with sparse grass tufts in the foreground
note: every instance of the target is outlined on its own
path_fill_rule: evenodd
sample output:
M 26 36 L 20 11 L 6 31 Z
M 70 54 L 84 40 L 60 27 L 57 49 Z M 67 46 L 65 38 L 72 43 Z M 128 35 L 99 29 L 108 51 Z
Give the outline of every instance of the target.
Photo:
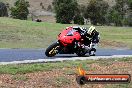
M 117 62 L 97 62 L 87 64 L 88 74 L 132 74 L 132 63 Z M 69 74 L 69 70 L 72 71 Z M 89 84 L 79 86 L 76 83 L 76 68 L 64 67 L 52 71 L 42 71 L 27 74 L 1 74 L 0 88 L 107 88 L 111 84 Z M 129 85 L 129 88 L 132 85 Z M 118 87 L 119 88 L 119 87 Z

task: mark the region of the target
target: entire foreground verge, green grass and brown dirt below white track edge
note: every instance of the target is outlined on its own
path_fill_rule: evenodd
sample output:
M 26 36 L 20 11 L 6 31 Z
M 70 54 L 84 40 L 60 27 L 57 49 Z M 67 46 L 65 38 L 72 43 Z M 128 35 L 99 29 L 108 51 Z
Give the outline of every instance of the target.
M 0 65 L 0 87 L 77 88 L 77 67 L 87 74 L 130 74 L 132 58 L 112 58 L 56 63 Z M 129 84 L 88 84 L 82 88 L 131 88 Z

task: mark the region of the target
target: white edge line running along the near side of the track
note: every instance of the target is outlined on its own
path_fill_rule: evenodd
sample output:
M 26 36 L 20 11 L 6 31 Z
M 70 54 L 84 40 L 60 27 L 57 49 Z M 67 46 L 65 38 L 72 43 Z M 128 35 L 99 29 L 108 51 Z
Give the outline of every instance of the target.
M 109 59 L 109 58 L 124 58 L 132 57 L 132 55 L 113 55 L 113 56 L 90 56 L 90 57 L 70 57 L 70 58 L 55 58 L 55 59 L 37 59 L 37 60 L 24 60 L 24 61 L 12 61 L 12 62 L 0 62 L 0 65 L 7 64 L 26 64 L 26 63 L 45 63 L 45 62 L 62 62 L 66 60 L 88 60 L 88 59 Z

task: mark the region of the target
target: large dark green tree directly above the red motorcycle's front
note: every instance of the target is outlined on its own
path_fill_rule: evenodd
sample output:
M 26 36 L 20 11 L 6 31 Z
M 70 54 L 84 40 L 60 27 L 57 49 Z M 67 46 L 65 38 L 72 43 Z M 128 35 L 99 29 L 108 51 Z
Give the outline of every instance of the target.
M 77 9 L 76 0 L 53 0 L 57 23 L 70 23 Z

